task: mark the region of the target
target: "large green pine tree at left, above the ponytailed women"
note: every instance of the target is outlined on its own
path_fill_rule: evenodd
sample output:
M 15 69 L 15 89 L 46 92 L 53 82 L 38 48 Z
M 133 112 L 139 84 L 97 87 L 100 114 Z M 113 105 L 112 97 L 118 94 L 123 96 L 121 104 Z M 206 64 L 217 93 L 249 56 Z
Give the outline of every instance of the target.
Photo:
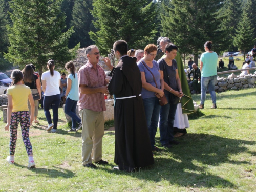
M 68 38 L 73 29 L 62 33 L 65 16 L 61 13 L 61 0 L 13 0 L 10 14 L 13 26 L 8 28 L 10 47 L 5 54 L 14 65 L 23 67 L 33 63 L 41 74 L 49 59 L 63 66 L 76 55 L 68 49 Z

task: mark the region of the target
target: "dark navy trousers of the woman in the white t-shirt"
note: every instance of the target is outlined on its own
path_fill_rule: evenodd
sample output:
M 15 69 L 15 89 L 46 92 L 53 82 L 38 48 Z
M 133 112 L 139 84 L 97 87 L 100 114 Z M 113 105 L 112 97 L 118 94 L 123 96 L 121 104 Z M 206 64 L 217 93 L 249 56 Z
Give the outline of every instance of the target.
M 48 121 L 48 124 L 52 123 L 52 118 L 50 114 L 50 106 L 52 105 L 53 129 L 57 129 L 57 125 L 58 125 L 58 119 L 59 119 L 58 109 L 59 109 L 60 100 L 61 100 L 60 94 L 44 96 L 44 111 L 45 111 L 45 116 Z

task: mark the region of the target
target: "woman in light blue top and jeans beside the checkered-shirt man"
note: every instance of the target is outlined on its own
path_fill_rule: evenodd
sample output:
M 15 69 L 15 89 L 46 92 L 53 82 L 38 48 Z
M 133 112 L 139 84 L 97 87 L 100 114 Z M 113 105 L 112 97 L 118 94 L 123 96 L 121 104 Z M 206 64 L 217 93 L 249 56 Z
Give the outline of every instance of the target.
M 82 127 L 81 119 L 76 115 L 76 105 L 79 100 L 78 94 L 78 76 L 75 72 L 75 66 L 73 61 L 66 63 L 65 68 L 69 73 L 67 79 L 67 91 L 66 91 L 66 104 L 65 104 L 65 113 L 68 114 L 72 119 L 72 127 L 68 132 L 78 131 Z M 78 122 L 78 127 L 76 129 L 76 122 Z

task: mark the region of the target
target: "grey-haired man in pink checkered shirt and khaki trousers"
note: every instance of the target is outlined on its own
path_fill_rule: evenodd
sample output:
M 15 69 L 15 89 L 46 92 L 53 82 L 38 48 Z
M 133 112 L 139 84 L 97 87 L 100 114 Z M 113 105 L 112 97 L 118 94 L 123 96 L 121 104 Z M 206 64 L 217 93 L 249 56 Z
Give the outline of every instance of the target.
M 102 137 L 106 111 L 104 94 L 108 94 L 104 70 L 98 65 L 100 52 L 97 46 L 87 47 L 88 61 L 78 71 L 79 114 L 82 120 L 82 165 L 96 168 L 92 163 L 108 164 L 102 158 Z M 104 59 L 104 62 L 105 59 Z

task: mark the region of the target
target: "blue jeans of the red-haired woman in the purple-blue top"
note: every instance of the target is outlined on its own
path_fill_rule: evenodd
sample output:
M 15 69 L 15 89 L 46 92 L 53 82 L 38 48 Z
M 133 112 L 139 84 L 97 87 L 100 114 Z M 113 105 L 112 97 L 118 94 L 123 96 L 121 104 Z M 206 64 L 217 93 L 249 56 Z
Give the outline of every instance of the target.
M 153 149 L 156 143 L 155 136 L 157 133 L 157 125 L 161 106 L 157 97 L 143 99 L 143 104 L 146 115 L 148 133 L 150 134 L 150 143 Z

